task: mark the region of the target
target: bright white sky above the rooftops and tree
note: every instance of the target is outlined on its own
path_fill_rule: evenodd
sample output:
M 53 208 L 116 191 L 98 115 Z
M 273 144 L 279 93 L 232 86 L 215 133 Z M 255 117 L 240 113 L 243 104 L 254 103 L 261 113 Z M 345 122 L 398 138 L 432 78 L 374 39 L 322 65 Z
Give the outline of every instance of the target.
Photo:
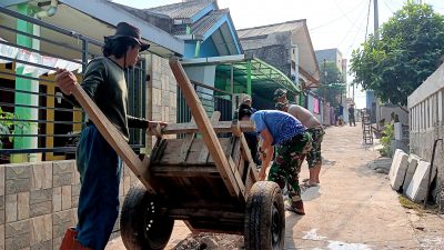
M 236 29 L 306 19 L 314 50 L 337 48 L 344 59 L 351 59 L 366 33 L 373 33 L 373 1 L 371 0 L 218 0 L 219 7 L 229 8 Z M 180 0 L 114 0 L 139 9 L 164 6 Z M 379 0 L 380 26 L 400 10 L 405 0 Z M 423 0 L 444 14 L 444 0 Z M 349 81 L 352 77 L 347 77 Z M 356 90 L 357 108 L 365 107 L 365 92 Z

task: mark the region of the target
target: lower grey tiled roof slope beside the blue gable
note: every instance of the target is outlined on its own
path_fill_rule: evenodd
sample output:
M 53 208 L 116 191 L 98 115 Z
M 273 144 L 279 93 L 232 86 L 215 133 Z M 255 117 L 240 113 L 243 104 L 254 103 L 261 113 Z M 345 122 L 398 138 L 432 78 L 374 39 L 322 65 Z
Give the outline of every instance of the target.
M 222 10 L 213 10 L 209 14 L 204 16 L 203 18 L 199 19 L 199 21 L 191 24 L 191 33 L 192 34 L 205 34 L 221 18 L 225 17 L 230 13 L 229 9 Z M 173 34 L 181 36 L 186 34 L 186 29 L 184 26 L 175 29 Z

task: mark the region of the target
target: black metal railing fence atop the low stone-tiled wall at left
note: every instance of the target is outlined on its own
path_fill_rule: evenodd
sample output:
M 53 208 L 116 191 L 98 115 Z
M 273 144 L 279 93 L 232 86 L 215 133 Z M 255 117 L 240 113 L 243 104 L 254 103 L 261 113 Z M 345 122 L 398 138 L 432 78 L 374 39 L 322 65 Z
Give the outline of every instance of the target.
M 80 81 L 88 62 L 101 56 L 102 42 L 0 8 L 0 20 L 6 19 L 32 23 L 39 31 L 63 39 L 40 37 L 0 22 L 0 163 L 8 163 L 11 154 L 39 154 L 42 160 L 72 158 L 84 114 L 54 87 L 54 69 L 67 68 Z M 32 48 L 20 40 L 40 46 Z M 145 114 L 144 63 L 127 71 L 129 113 L 134 117 Z M 144 146 L 143 134 L 130 130 L 134 149 Z

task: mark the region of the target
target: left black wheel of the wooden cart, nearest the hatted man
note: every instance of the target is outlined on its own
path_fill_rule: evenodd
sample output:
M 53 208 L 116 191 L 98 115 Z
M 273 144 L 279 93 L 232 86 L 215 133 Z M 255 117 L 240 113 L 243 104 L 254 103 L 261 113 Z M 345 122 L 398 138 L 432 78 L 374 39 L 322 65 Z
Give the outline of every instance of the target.
M 123 244 L 129 250 L 164 249 L 173 231 L 174 220 L 162 212 L 155 197 L 141 182 L 127 193 L 120 218 Z

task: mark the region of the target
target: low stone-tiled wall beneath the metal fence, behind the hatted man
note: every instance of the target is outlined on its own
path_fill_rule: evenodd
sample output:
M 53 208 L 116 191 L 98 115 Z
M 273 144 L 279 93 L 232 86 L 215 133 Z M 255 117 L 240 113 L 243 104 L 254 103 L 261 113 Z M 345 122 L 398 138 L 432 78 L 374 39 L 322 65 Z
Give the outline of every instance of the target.
M 59 249 L 77 222 L 79 178 L 74 161 L 0 166 L 0 249 Z M 124 167 L 121 203 L 134 181 Z

